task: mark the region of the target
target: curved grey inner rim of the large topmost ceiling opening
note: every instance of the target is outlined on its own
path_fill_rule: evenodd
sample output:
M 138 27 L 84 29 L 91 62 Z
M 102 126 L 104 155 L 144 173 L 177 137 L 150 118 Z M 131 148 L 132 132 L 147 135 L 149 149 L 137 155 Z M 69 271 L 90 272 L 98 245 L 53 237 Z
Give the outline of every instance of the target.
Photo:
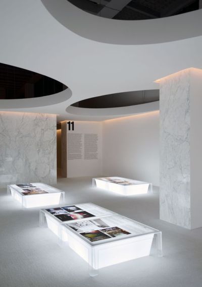
M 125 1 L 113 0 L 113 3 L 123 3 Z M 84 0 L 80 1 L 80 3 L 83 2 Z M 87 13 L 68 0 L 41 0 L 41 3 L 49 14 L 68 30 L 99 43 L 118 45 L 157 44 L 198 37 L 202 33 L 202 9 L 172 17 L 120 21 L 114 20 L 113 17 L 107 19 Z M 161 0 L 159 0 L 159 3 L 161 3 Z M 176 1 L 176 3 L 184 4 L 184 1 Z

